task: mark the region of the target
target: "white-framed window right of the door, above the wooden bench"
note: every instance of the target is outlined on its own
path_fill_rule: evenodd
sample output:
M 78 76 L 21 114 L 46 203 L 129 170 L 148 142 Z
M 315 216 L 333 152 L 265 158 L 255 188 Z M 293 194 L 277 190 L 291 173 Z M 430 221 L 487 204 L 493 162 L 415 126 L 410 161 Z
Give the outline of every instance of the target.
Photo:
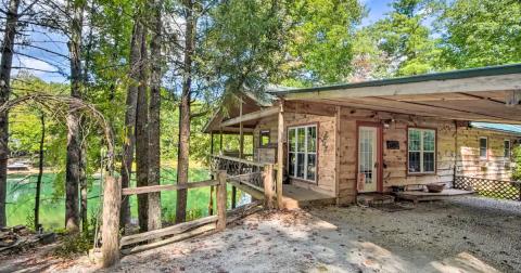
M 436 131 L 410 128 L 408 132 L 409 173 L 434 173 L 436 166 Z

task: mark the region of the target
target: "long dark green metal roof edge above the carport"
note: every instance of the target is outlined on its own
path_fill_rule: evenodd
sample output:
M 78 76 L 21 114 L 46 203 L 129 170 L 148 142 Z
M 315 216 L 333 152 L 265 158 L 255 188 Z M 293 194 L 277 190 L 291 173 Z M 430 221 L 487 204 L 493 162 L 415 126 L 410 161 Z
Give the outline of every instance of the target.
M 521 64 L 486 66 L 486 67 L 472 68 L 472 69 L 432 73 L 432 74 L 416 75 L 416 76 L 408 76 L 408 77 L 369 80 L 369 81 L 361 81 L 361 82 L 341 83 L 341 84 L 321 86 L 321 87 L 312 87 L 312 88 L 280 88 L 277 90 L 269 90 L 268 92 L 276 95 L 283 95 L 289 93 L 305 93 L 305 92 L 354 89 L 354 88 L 364 88 L 364 87 L 381 87 L 381 86 L 411 83 L 411 82 L 421 82 L 421 81 L 430 81 L 430 80 L 463 79 L 463 78 L 497 76 L 497 75 L 507 75 L 507 74 L 521 74 Z

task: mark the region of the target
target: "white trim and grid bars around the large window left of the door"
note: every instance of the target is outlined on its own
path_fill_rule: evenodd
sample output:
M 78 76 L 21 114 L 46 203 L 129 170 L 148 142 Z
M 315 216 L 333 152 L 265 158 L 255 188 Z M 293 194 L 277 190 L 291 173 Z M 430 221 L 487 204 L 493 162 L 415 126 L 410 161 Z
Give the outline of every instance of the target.
M 290 152 L 290 146 L 291 146 L 291 143 L 290 143 L 290 130 L 291 129 L 295 129 L 295 134 L 297 132 L 297 129 L 298 128 L 309 128 L 309 127 L 315 127 L 315 131 L 316 131 L 316 152 L 315 153 L 307 153 L 307 151 L 304 153 L 304 178 L 298 178 L 298 177 L 295 177 L 295 176 L 290 176 L 290 171 L 289 171 L 289 168 L 290 168 L 290 153 L 297 153 L 297 152 Z M 306 131 L 306 135 L 307 135 L 307 130 Z M 319 158 L 319 142 L 318 142 L 318 134 L 319 133 L 319 123 L 318 122 L 312 122 L 312 123 L 303 123 L 303 125 L 292 125 L 292 126 L 287 126 L 285 127 L 285 143 L 287 143 L 287 147 L 285 147 L 285 152 L 287 152 L 287 159 L 285 159 L 285 168 L 288 170 L 288 177 L 290 179 L 293 179 L 293 180 L 297 180 L 297 181 L 303 181 L 303 182 L 307 182 L 307 183 L 315 183 L 315 184 L 318 184 L 318 176 L 319 176 L 319 168 L 318 168 L 318 158 Z M 296 138 L 296 135 L 295 135 Z M 306 145 L 306 150 L 307 150 L 307 138 L 306 138 L 306 141 L 305 141 L 305 145 Z M 308 154 L 315 154 L 315 180 L 309 180 L 307 179 L 307 155 Z M 297 164 L 295 164 L 295 167 L 294 167 L 294 173 L 296 174 L 296 168 L 297 168 Z

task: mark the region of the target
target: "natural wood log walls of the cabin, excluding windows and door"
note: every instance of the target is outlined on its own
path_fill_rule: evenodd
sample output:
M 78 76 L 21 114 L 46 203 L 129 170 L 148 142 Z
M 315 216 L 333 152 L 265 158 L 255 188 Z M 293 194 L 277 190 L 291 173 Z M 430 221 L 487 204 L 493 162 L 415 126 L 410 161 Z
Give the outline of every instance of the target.
M 335 195 L 339 204 L 351 204 L 356 198 L 357 177 L 357 122 L 385 123 L 382 129 L 383 191 L 392 185 L 410 185 L 441 182 L 452 185 L 455 170 L 458 176 L 488 179 L 509 179 L 510 160 L 503 157 L 504 140 L 511 146 L 518 135 L 468 128 L 466 123 L 429 117 L 418 117 L 385 112 L 336 107 L 326 104 L 291 102 L 284 109 L 285 131 L 291 126 L 318 125 L 318 179 L 309 183 L 292 179 L 293 184 L 329 195 Z M 339 112 L 339 113 L 336 113 Z M 262 119 L 254 130 L 257 160 L 276 160 L 277 116 Z M 432 174 L 407 173 L 407 129 L 409 127 L 436 130 L 436 171 Z M 457 129 L 456 129 L 457 128 Z M 260 130 L 270 131 L 272 153 L 258 147 Z M 479 138 L 488 138 L 488 159 L 479 157 Z M 287 141 L 287 140 L 284 140 Z M 386 141 L 397 141 L 399 148 L 387 150 Z M 287 151 L 287 143 L 283 143 Z M 338 152 L 336 152 L 338 151 Z M 285 162 L 287 158 L 284 158 Z

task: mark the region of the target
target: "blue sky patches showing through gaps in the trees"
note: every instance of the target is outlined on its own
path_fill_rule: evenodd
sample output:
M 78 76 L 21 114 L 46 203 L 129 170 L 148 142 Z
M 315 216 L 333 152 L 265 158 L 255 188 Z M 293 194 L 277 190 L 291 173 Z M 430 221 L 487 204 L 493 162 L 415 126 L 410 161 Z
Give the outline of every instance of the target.
M 370 25 L 378 20 L 382 18 L 385 13 L 390 12 L 390 3 L 392 0 L 359 0 L 368 9 L 368 16 L 365 17 L 361 22 L 363 26 Z M 31 40 L 33 44 L 59 52 L 60 54 L 67 55 L 67 46 L 66 38 L 61 37 L 55 34 L 50 34 L 46 31 L 36 31 L 33 32 Z M 58 42 L 49 42 L 49 40 Z M 68 74 L 68 62 L 53 54 L 46 53 L 41 50 L 36 50 L 31 48 L 25 48 L 22 50 L 24 54 L 36 56 L 36 58 L 30 58 L 23 55 L 15 55 L 13 60 L 13 66 L 29 67 L 34 70 L 30 70 L 35 76 L 43 79 L 45 81 L 53 82 L 67 82 L 67 77 L 64 77 L 62 74 L 56 73 L 47 73 L 46 70 L 54 72 L 56 70 L 55 66 L 63 67 L 63 73 Z M 53 66 L 54 65 L 54 66 Z M 16 74 L 16 72 L 14 72 Z

